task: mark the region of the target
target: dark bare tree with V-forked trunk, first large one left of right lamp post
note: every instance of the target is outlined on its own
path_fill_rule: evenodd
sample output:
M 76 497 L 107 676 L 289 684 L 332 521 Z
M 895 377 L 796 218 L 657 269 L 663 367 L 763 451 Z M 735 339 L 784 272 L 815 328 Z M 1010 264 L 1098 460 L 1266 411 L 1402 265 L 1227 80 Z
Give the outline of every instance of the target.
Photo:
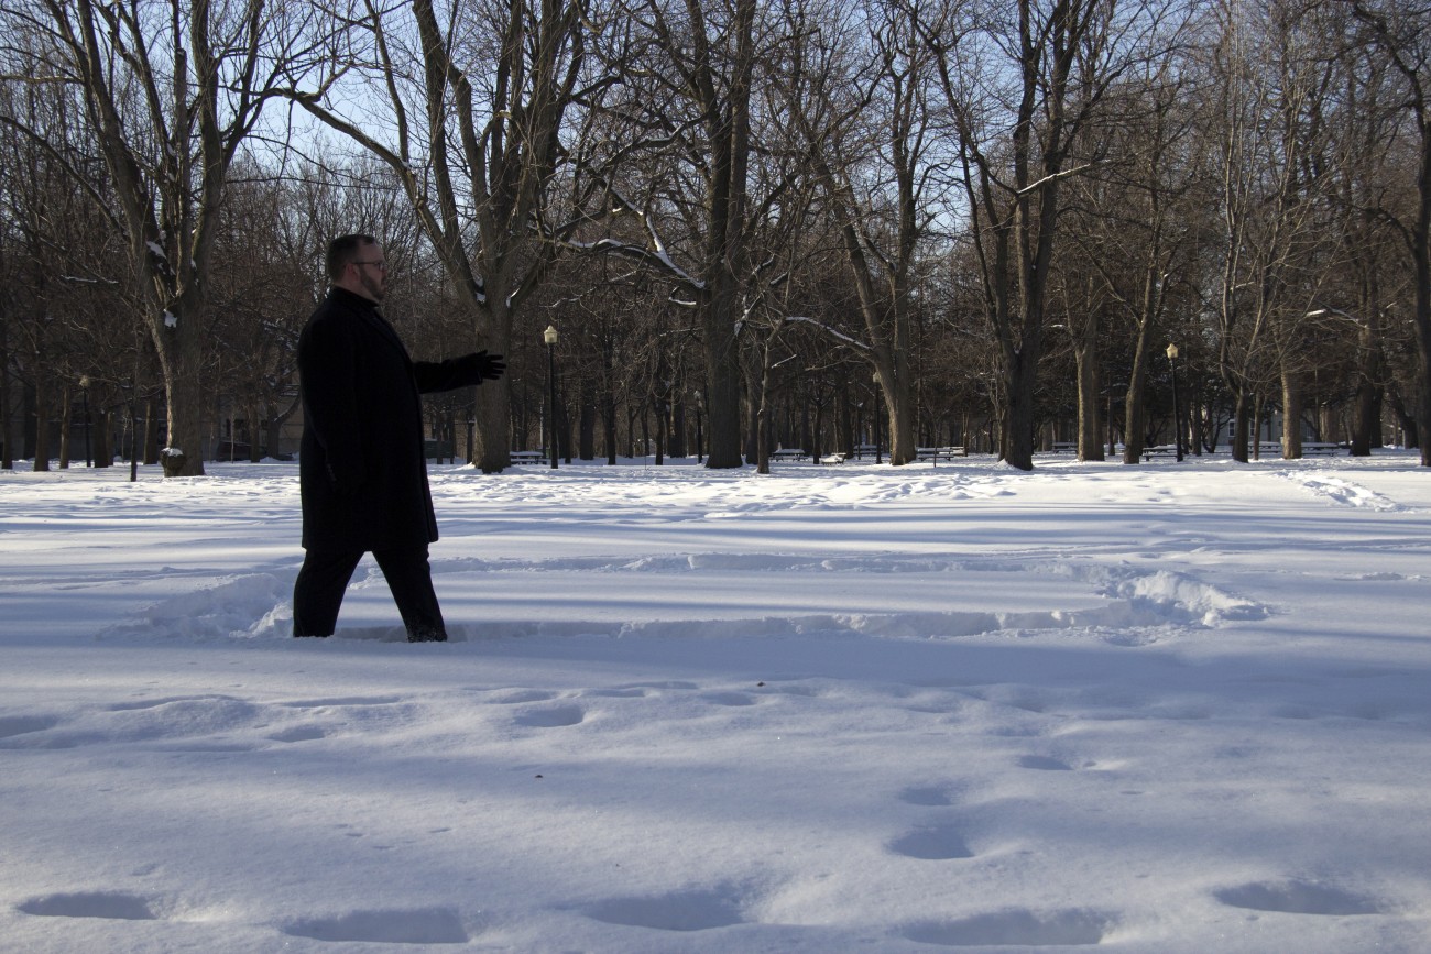
M 1083 127 L 1132 63 L 1155 54 L 1163 10 L 1099 0 L 973 0 L 929 31 L 959 136 L 985 313 L 1007 402 L 1002 455 L 1033 468 L 1039 359 L 1062 210 Z

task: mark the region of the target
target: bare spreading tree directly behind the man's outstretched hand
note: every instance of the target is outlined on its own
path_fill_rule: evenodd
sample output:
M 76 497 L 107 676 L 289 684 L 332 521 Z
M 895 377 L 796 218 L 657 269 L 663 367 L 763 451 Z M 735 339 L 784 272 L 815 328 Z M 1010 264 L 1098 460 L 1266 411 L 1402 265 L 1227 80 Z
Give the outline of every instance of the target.
M 494 352 L 511 352 L 512 318 L 557 252 L 545 202 L 567 110 L 608 82 L 585 73 L 602 19 L 592 6 L 415 0 L 335 13 L 332 62 L 290 92 L 392 169 L 478 343 Z M 385 116 L 371 112 L 376 97 Z M 509 379 L 478 389 L 484 472 L 509 463 Z

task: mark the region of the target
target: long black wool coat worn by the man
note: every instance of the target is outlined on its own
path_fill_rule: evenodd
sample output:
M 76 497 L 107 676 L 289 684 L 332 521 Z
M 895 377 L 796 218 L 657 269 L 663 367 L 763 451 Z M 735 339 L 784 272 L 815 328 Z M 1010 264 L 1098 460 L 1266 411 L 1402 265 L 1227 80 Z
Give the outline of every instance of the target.
M 419 395 L 481 383 L 472 356 L 414 362 L 376 305 L 335 287 L 298 340 L 298 373 L 303 546 L 436 541 Z

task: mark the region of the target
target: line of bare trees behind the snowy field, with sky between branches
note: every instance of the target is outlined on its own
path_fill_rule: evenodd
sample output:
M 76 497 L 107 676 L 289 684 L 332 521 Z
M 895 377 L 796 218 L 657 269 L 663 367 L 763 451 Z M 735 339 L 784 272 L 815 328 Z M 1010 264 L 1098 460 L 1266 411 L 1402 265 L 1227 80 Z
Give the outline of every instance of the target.
M 275 448 L 353 230 L 415 353 L 511 359 L 428 405 L 485 472 L 544 433 L 1248 461 L 1274 412 L 1285 456 L 1431 465 L 1425 4 L 0 0 L 0 36 L 4 466 L 77 406 L 96 459 Z

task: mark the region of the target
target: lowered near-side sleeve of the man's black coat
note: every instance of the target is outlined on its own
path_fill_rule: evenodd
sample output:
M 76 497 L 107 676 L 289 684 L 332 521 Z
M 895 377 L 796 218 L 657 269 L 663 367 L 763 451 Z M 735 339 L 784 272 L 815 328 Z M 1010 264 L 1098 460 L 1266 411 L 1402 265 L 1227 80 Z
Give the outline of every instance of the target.
M 358 353 L 343 322 L 309 325 L 298 349 L 305 426 L 323 449 L 328 478 L 341 493 L 363 482 L 363 439 L 358 410 Z

